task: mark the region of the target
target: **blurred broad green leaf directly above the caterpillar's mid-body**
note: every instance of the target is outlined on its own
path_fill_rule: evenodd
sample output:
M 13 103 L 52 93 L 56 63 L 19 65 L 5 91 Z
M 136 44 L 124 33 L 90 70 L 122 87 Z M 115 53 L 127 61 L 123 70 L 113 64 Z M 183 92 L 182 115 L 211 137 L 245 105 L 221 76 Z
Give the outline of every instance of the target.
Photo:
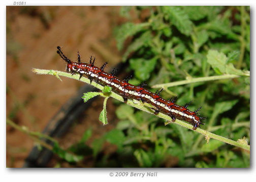
M 154 70 L 157 57 L 146 60 L 144 58 L 130 59 L 131 68 L 135 71 L 135 76 L 144 81 L 150 77 L 150 73 Z

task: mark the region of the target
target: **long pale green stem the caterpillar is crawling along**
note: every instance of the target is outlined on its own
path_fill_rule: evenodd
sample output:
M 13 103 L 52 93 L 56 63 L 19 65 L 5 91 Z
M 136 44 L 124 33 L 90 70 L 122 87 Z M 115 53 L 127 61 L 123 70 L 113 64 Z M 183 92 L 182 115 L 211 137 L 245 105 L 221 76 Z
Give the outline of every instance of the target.
M 57 78 L 58 78 L 58 76 L 66 76 L 66 77 L 77 79 L 77 80 L 79 80 L 79 76 L 80 76 L 79 74 L 74 74 L 72 76 L 70 73 L 66 73 L 66 72 L 62 72 L 62 71 L 41 70 L 41 69 L 35 69 L 35 68 L 33 69 L 33 72 L 35 72 L 37 74 L 55 75 Z M 235 75 L 235 76 L 238 77 L 237 75 Z M 83 81 L 85 83 L 90 84 L 90 80 L 88 78 L 85 78 L 85 77 L 82 77 L 80 79 L 80 81 Z M 99 88 L 101 90 L 103 89 L 102 85 L 100 85 L 100 84 L 98 84 L 98 83 L 96 83 L 94 81 L 91 82 L 91 85 L 93 85 L 93 86 L 95 86 L 95 87 L 97 87 L 97 88 Z M 103 97 L 109 97 L 109 96 L 104 96 L 103 95 Z M 116 99 L 118 101 L 123 102 L 123 98 L 121 96 L 119 96 L 118 94 L 114 93 L 114 92 L 111 92 L 110 97 L 112 97 L 112 98 L 114 98 L 114 99 Z M 130 100 L 130 99 L 127 101 L 127 104 L 132 106 L 132 107 L 135 107 L 135 108 L 137 108 L 139 110 L 142 110 L 144 112 L 147 112 L 147 113 L 150 113 L 150 114 L 154 115 L 154 113 L 149 109 L 150 107 L 152 107 L 150 104 L 147 104 L 147 103 L 145 103 L 145 104 L 142 104 L 142 103 L 138 104 L 138 103 L 134 103 L 133 100 Z M 175 122 L 172 122 L 172 118 L 169 117 L 168 115 L 163 114 L 163 113 L 158 113 L 156 116 L 158 116 L 159 118 L 163 118 L 163 119 L 167 120 L 168 124 L 169 123 L 174 123 L 174 124 L 179 124 L 179 125 L 181 125 L 181 126 L 183 126 L 185 128 L 191 129 L 191 130 L 193 129 L 193 126 L 191 124 L 188 124 L 188 123 L 186 123 L 184 121 L 176 119 Z M 227 144 L 234 145 L 234 146 L 237 146 L 237 147 L 240 147 L 242 149 L 250 151 L 250 146 L 247 145 L 247 144 L 243 144 L 243 143 L 240 143 L 240 142 L 236 142 L 236 141 L 224 138 L 222 136 L 219 136 L 217 134 L 211 133 L 209 131 L 206 131 L 206 130 L 203 130 L 203 129 L 200 129 L 200 128 L 197 128 L 194 131 L 198 132 L 198 133 L 201 133 L 201 134 L 207 136 L 208 138 L 216 139 L 216 140 L 225 142 Z

